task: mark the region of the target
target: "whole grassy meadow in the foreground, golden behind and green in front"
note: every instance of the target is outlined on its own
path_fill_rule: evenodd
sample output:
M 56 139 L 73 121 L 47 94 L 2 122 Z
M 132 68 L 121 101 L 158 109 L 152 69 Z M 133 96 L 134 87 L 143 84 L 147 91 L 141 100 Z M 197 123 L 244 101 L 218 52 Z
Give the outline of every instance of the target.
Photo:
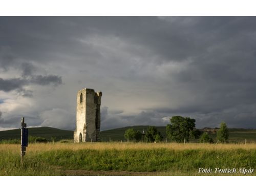
M 214 173 L 256 167 L 256 144 L 32 143 L 20 163 L 19 144 L 0 144 L 1 176 L 255 176 Z M 199 168 L 213 169 L 198 173 Z

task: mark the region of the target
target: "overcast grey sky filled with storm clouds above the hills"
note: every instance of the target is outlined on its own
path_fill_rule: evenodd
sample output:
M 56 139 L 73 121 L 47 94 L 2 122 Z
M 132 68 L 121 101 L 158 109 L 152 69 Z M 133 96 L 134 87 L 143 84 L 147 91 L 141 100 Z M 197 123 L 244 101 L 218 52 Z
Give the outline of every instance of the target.
M 102 91 L 101 130 L 256 128 L 256 17 L 0 17 L 0 130 L 74 130 L 83 88 Z

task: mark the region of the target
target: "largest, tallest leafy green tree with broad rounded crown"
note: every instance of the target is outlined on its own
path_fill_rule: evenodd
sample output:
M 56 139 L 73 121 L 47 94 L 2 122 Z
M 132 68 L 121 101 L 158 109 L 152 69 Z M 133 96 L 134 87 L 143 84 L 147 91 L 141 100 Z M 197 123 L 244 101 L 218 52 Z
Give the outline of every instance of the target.
M 188 141 L 189 135 L 195 130 L 196 120 L 190 117 L 173 116 L 166 125 L 166 135 L 176 142 Z

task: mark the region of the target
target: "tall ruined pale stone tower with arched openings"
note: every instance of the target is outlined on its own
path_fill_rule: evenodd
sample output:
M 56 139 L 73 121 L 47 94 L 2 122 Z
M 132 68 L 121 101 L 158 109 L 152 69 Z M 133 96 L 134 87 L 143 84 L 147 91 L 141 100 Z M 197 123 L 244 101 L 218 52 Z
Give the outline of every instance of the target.
M 102 93 L 82 89 L 77 93 L 76 130 L 74 142 L 98 141 L 100 131 L 100 100 Z

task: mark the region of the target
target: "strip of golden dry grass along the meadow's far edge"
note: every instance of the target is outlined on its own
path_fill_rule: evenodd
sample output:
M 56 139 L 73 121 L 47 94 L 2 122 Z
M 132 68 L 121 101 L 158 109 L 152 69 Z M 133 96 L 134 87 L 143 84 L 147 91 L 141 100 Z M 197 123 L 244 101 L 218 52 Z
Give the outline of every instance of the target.
M 133 143 L 133 142 L 88 142 L 88 143 L 32 143 L 27 152 L 44 152 L 52 150 L 149 150 L 166 148 L 168 150 L 254 150 L 255 143 L 246 144 L 208 144 L 208 143 Z M 1 151 L 17 152 L 18 144 L 0 144 Z

